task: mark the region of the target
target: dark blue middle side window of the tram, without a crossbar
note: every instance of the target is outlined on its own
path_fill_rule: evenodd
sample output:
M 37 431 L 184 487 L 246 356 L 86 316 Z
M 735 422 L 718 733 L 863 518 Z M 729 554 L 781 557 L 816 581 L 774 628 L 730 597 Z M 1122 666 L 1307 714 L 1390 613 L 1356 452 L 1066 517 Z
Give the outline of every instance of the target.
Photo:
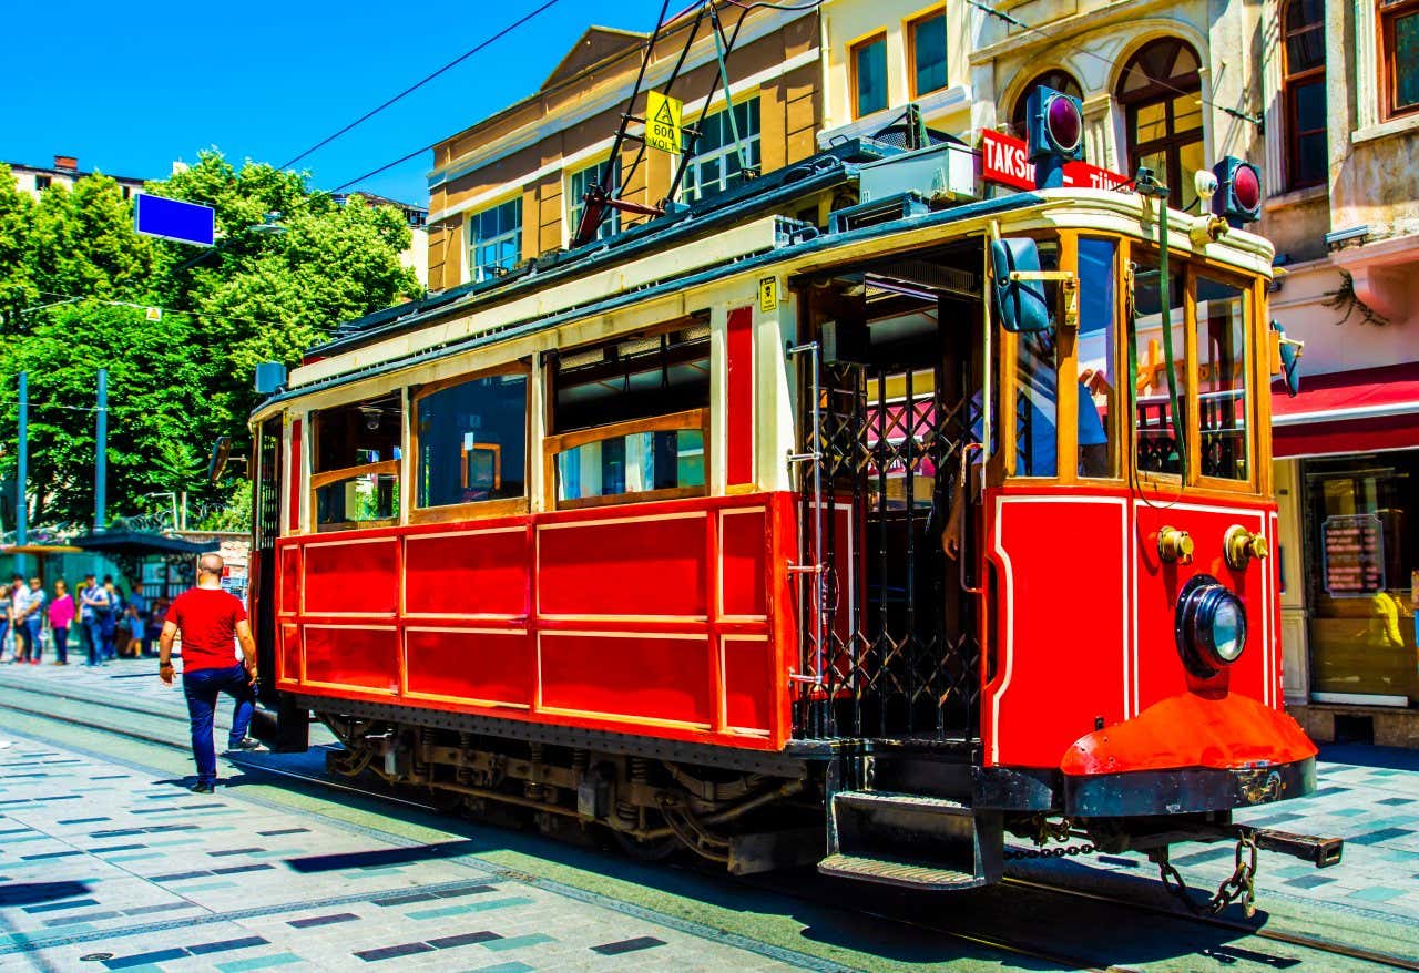
M 526 384 L 499 374 L 419 400 L 419 506 L 525 494 Z

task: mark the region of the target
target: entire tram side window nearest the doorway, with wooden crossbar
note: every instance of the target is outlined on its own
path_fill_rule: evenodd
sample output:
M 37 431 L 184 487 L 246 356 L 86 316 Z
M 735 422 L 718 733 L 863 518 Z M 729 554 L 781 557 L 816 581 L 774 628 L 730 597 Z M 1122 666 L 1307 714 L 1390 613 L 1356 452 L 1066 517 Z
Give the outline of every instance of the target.
M 705 492 L 708 325 L 568 352 L 551 373 L 555 506 Z

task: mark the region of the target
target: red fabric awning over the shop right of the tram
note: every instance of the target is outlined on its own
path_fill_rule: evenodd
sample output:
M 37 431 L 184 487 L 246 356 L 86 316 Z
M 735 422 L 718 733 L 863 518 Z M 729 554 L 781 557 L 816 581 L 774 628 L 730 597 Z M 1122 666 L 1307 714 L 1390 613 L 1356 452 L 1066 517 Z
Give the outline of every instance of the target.
M 1303 374 L 1294 399 L 1276 383 L 1271 438 L 1277 460 L 1419 448 L 1419 362 Z

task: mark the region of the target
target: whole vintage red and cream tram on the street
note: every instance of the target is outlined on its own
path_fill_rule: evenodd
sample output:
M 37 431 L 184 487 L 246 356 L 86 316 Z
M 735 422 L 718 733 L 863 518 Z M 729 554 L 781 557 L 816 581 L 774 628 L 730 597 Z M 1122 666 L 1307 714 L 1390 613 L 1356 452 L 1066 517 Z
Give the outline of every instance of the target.
M 1314 789 L 1270 245 L 1147 180 L 952 197 L 962 152 L 843 145 L 314 349 L 251 420 L 285 745 L 741 872 L 1338 860 L 1230 823 Z

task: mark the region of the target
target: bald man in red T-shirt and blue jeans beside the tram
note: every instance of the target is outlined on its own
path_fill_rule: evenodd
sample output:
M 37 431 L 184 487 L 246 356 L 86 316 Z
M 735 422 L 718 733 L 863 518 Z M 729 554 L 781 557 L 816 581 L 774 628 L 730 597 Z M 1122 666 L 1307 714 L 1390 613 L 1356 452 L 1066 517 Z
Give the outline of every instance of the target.
M 182 631 L 182 688 L 192 722 L 192 756 L 197 762 L 197 783 L 192 786 L 196 794 L 210 794 L 217 783 L 217 753 L 211 743 L 217 694 L 226 692 L 237 701 L 228 749 L 264 749 L 247 736 L 255 706 L 257 644 L 241 600 L 221 589 L 221 570 L 219 555 L 197 560 L 197 587 L 173 600 L 158 638 L 158 675 L 172 685 L 173 637 Z M 236 661 L 233 640 L 241 644 L 244 662 Z

